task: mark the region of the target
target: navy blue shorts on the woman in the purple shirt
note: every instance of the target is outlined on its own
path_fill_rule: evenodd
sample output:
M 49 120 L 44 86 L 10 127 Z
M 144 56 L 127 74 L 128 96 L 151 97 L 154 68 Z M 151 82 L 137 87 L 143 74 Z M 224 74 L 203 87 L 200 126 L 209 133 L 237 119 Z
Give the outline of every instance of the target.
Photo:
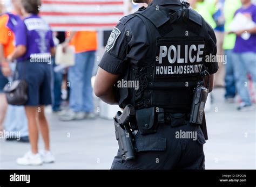
M 19 61 L 18 77 L 28 83 L 28 102 L 25 106 L 51 105 L 51 64 Z

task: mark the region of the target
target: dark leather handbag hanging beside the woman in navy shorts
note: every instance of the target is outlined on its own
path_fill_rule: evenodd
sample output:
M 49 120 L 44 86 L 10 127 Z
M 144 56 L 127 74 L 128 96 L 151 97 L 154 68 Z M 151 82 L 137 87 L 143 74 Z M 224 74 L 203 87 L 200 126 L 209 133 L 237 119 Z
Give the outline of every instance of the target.
M 18 73 L 16 64 L 15 75 Z M 5 85 L 3 91 L 5 92 L 7 103 L 10 105 L 22 106 L 28 101 L 28 83 L 23 80 L 15 80 Z

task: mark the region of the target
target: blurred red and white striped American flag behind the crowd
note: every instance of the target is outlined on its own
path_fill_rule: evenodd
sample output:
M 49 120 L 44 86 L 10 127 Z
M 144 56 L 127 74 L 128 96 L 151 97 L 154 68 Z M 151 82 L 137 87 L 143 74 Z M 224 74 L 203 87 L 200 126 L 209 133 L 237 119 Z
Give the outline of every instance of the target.
M 43 0 L 41 16 L 53 31 L 112 30 L 127 0 Z

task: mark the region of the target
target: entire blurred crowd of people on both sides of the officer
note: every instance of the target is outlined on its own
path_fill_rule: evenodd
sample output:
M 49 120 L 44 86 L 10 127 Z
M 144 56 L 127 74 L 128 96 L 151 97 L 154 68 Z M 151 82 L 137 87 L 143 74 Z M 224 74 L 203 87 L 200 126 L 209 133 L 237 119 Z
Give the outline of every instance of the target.
M 51 105 L 53 113 L 62 121 L 95 119 L 91 78 L 98 49 L 97 31 L 52 32 L 39 16 L 40 0 L 12 0 L 10 12 L 6 12 L 3 1 L 0 0 L 0 131 L 21 132 L 20 141 L 30 142 L 31 151 L 19 158 L 18 164 L 54 162 L 45 106 Z M 188 2 L 215 30 L 217 55 L 222 57 L 218 62 L 215 87 L 225 88 L 228 103 L 234 103 L 238 95 L 239 111 L 253 110 L 253 87 L 256 83 L 255 1 Z M 132 11 L 137 8 L 131 4 Z M 254 25 L 238 28 L 239 24 L 234 20 L 240 15 Z M 75 46 L 74 66 L 60 68 L 55 63 L 56 46 L 61 46 L 63 53 L 69 46 Z M 45 54 L 51 56 L 50 63 L 31 63 L 31 56 Z M 28 82 L 28 101 L 24 106 L 8 105 L 6 101 L 3 89 L 14 81 L 14 77 Z M 39 132 L 45 143 L 41 151 L 37 146 Z M 6 137 L 8 141 L 15 139 Z

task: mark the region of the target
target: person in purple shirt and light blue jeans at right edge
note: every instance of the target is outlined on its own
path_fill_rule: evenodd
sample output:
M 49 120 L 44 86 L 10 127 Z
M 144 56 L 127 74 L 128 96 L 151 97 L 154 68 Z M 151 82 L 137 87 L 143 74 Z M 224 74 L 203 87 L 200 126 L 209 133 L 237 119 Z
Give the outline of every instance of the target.
M 251 0 L 241 0 L 241 2 L 242 7 L 235 12 L 235 15 L 242 13 L 255 24 L 251 29 L 235 32 L 237 40 L 233 49 L 235 84 L 242 100 L 238 110 L 248 111 L 254 110 L 252 105 L 254 99 L 250 97 L 248 90 L 247 74 L 251 75 L 252 81 L 256 85 L 256 6 L 251 3 Z

